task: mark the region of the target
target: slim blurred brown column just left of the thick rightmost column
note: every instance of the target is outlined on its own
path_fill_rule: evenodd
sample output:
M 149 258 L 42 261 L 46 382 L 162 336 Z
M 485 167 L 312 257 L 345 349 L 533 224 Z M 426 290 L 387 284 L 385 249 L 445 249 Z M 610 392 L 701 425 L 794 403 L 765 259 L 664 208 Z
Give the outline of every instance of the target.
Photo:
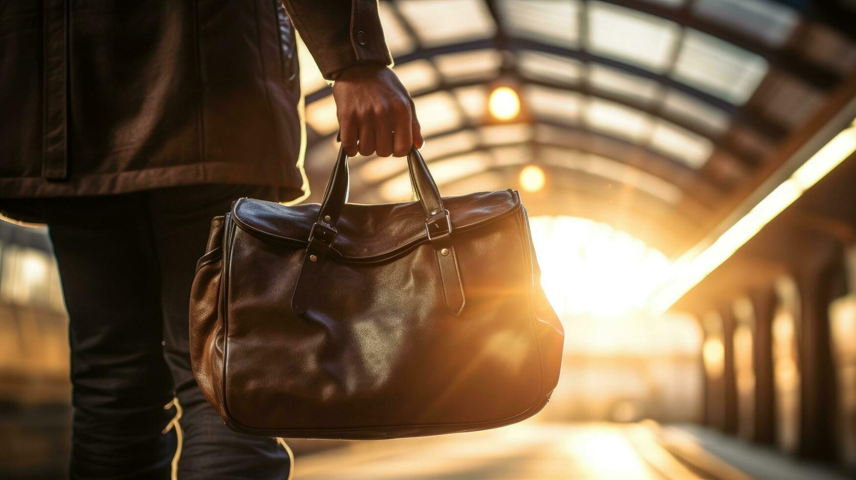
M 752 441 L 776 441 L 776 387 L 773 376 L 773 315 L 776 291 L 767 286 L 752 292 L 755 327 L 752 329 L 752 360 L 755 371 L 755 410 Z

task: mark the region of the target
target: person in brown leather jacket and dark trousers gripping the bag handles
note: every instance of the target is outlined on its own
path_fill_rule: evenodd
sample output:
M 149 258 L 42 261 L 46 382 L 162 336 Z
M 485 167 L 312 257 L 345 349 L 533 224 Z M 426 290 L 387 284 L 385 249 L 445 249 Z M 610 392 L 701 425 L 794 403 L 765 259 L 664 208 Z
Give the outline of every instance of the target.
M 169 477 L 174 395 L 179 478 L 288 476 L 274 439 L 232 432 L 202 397 L 187 313 L 211 218 L 306 189 L 293 25 L 335 81 L 349 155 L 403 156 L 422 138 L 377 0 L 284 3 L 0 3 L 0 207 L 49 225 L 72 477 Z

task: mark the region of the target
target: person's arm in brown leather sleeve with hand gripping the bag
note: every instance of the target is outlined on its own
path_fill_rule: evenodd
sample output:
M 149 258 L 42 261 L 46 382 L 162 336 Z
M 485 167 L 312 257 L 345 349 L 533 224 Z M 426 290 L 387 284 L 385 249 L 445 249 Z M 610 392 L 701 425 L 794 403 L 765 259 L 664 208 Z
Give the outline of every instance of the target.
M 350 156 L 403 157 L 422 147 L 413 100 L 395 73 L 377 0 L 282 0 L 294 27 L 334 80 L 342 147 Z

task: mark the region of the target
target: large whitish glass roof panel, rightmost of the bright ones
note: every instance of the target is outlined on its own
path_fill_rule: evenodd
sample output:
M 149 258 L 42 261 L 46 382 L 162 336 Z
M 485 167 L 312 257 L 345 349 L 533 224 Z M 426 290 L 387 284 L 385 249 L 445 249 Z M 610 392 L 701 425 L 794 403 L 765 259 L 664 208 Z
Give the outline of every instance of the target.
M 743 105 L 764 80 L 768 68 L 763 57 L 688 29 L 673 76 L 734 105 Z

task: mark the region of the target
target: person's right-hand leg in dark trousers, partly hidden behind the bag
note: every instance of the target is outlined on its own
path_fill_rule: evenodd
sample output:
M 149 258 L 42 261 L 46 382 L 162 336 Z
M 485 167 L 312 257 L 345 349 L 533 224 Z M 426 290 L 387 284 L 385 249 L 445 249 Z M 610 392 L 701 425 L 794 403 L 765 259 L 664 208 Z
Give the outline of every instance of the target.
M 202 185 L 149 192 L 158 237 L 163 297 L 163 354 L 175 379 L 183 432 L 180 480 L 287 478 L 288 452 L 272 438 L 230 430 L 208 404 L 190 368 L 188 311 L 196 261 L 205 253 L 211 219 L 241 196 L 276 200 L 276 189 Z

